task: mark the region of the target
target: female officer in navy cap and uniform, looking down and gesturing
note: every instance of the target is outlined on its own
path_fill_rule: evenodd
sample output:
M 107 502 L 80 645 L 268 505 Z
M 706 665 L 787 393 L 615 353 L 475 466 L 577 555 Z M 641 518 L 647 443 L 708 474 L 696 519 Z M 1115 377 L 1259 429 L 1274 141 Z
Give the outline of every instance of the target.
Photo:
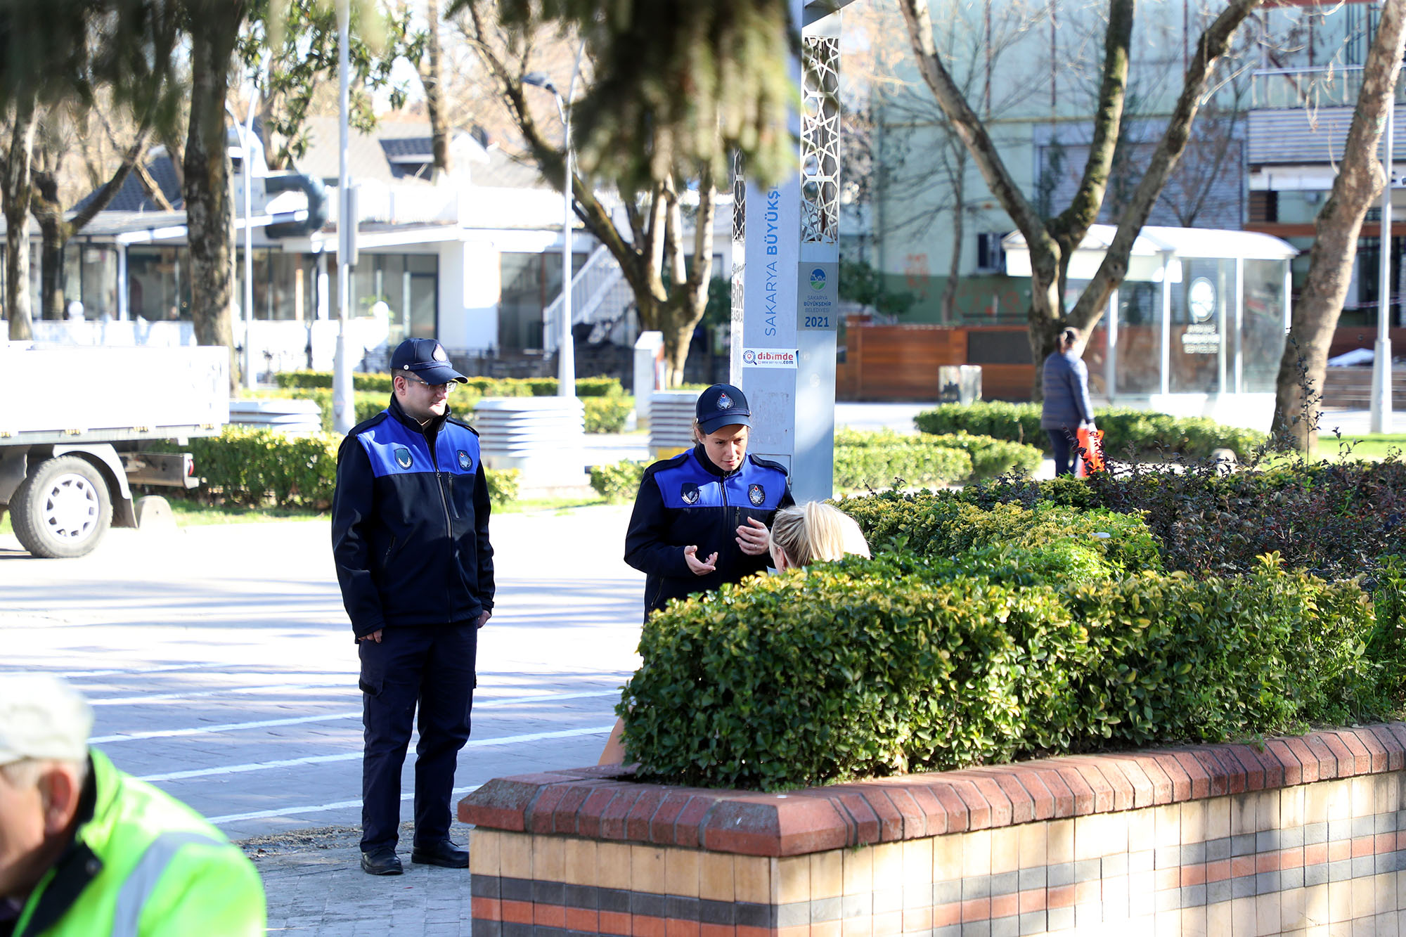
M 752 411 L 742 391 L 699 395 L 692 450 L 644 470 L 624 561 L 645 574 L 644 613 L 766 570 L 768 525 L 794 504 L 786 470 L 747 454 Z

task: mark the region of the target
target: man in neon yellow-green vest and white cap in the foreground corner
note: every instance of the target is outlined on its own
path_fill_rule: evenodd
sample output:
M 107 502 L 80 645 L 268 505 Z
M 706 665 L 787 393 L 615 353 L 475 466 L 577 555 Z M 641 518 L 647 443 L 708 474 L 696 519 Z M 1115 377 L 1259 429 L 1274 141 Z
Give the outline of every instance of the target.
M 0 937 L 262 936 L 253 864 L 91 727 L 56 677 L 0 674 Z

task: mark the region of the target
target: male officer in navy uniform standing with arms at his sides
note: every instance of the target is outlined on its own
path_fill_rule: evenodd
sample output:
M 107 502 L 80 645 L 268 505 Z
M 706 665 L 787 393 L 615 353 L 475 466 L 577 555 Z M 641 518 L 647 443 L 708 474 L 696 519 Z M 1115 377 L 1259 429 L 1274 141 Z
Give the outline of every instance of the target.
M 419 703 L 411 861 L 468 867 L 449 839 L 468 740 L 478 629 L 494 608 L 488 481 L 478 433 L 449 409 L 467 383 L 433 339 L 391 356 L 391 405 L 337 453 L 332 552 L 361 657 L 361 869 L 399 875 L 401 767 Z

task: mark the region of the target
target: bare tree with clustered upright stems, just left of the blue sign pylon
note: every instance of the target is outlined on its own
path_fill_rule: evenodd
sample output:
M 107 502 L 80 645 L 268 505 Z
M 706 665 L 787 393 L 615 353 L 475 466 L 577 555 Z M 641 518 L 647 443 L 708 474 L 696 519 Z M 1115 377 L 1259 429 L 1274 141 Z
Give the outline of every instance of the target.
M 548 139 L 523 86 L 523 75 L 533 62 L 531 34 L 499 28 L 486 0 L 468 0 L 460 6 L 464 35 L 506 103 L 526 144 L 527 162 L 561 187 L 565 181 L 565 151 Z M 696 205 L 688 205 L 693 238 L 688 243 L 685 203 L 692 201 L 689 193 L 695 187 Z M 716 201 L 711 162 L 690 165 L 681 156 L 672 173 L 650 183 L 645 190 L 631 190 L 621 183 L 619 212 L 624 215 L 623 221 L 579 173 L 572 173 L 571 189 L 576 217 L 620 264 L 634 293 L 640 326 L 664 333 L 668 380 L 671 385 L 678 385 L 683 380 L 693 328 L 707 307 Z

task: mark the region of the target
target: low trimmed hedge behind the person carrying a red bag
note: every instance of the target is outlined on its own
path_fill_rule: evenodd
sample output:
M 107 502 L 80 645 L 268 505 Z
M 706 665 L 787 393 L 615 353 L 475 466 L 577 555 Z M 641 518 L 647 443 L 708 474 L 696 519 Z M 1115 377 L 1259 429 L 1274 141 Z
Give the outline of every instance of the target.
M 1104 431 L 1104 452 L 1114 459 L 1136 456 L 1182 456 L 1205 459 L 1215 449 L 1232 449 L 1244 459 L 1263 446 L 1267 436 L 1253 429 L 1223 426 L 1202 416 L 1168 416 L 1129 408 L 1094 411 L 1098 428 Z M 1040 446 L 1047 445 L 1040 429 L 1039 404 L 1007 404 L 1001 401 L 969 405 L 943 404 L 914 418 L 925 433 L 967 432 Z

